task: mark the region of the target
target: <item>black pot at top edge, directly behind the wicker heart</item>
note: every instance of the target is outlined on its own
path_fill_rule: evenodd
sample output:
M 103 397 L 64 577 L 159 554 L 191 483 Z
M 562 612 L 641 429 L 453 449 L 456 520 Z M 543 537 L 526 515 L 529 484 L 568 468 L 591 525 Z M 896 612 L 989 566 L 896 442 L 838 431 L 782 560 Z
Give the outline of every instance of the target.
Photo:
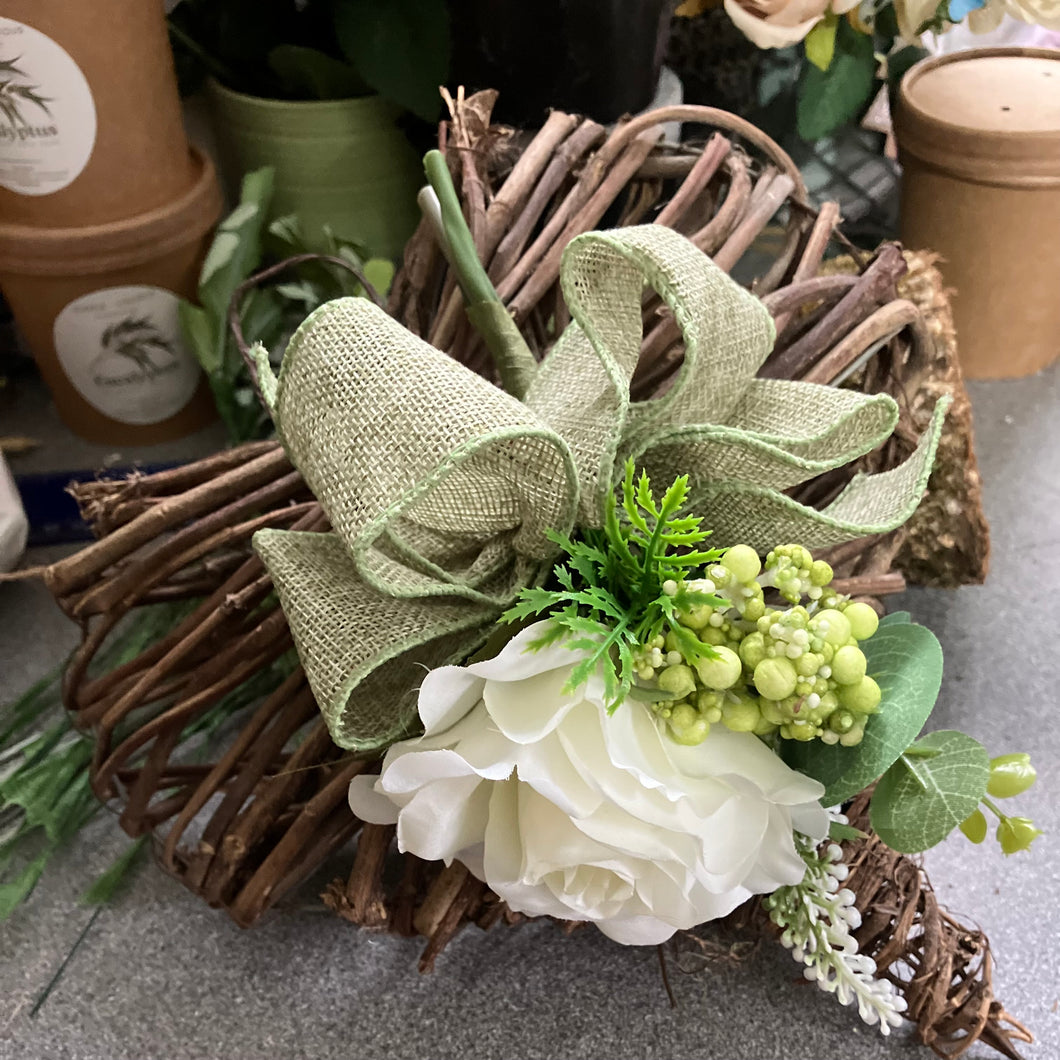
M 550 107 L 611 122 L 651 103 L 672 0 L 450 0 L 454 84 L 496 88 L 498 121 Z

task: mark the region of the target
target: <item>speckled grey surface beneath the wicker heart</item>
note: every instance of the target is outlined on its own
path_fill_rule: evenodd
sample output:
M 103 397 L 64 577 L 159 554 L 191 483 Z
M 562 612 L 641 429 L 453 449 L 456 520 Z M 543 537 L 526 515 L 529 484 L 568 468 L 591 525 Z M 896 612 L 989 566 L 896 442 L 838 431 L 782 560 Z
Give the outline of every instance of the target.
M 1005 1006 L 1060 1057 L 1060 365 L 971 387 L 993 570 L 984 587 L 911 590 L 896 607 L 939 635 L 947 676 L 930 727 L 994 754 L 1034 753 L 1021 807 L 1046 830 L 1005 859 L 959 835 L 926 855 L 942 903 L 982 925 Z M 74 631 L 36 585 L 0 586 L 0 697 L 54 666 Z M 420 976 L 420 947 L 320 912 L 324 872 L 264 924 L 241 931 L 147 866 L 91 924 L 39 1012 L 30 1009 L 92 918 L 76 897 L 121 849 L 99 819 L 29 903 L 0 925 L 0 1060 L 120 1058 L 685 1058 L 926 1060 L 799 984 L 773 947 L 735 967 L 675 975 L 671 1011 L 655 955 L 548 924 L 465 931 Z M 337 873 L 338 868 L 334 870 Z M 992 1054 L 973 1049 L 969 1057 Z

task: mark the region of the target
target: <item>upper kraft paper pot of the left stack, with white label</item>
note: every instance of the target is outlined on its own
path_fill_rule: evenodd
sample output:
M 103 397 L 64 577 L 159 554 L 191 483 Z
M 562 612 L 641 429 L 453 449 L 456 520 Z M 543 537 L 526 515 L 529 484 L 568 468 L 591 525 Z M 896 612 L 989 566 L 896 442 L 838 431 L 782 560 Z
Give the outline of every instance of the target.
M 0 223 L 72 228 L 194 183 L 161 3 L 4 0 Z

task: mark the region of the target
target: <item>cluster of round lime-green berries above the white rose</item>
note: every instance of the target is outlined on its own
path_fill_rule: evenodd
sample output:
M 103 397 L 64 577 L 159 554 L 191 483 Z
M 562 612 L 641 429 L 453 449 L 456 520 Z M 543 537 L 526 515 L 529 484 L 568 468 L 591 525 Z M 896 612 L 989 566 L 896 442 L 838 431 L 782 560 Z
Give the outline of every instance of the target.
M 881 697 L 858 647 L 876 633 L 876 612 L 836 594 L 832 568 L 801 545 L 775 548 L 764 566 L 754 549 L 736 545 L 705 575 L 664 590 L 716 598 L 677 612 L 678 623 L 710 646 L 710 657 L 689 657 L 673 631 L 634 656 L 673 738 L 697 744 L 720 723 L 763 737 L 860 743 Z M 766 604 L 768 588 L 791 606 Z

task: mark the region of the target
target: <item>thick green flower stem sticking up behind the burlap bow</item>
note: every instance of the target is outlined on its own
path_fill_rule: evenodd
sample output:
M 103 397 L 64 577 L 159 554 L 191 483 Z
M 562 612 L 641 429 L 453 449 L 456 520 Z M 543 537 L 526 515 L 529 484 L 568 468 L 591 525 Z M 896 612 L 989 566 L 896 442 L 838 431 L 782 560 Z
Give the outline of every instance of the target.
M 467 303 L 467 318 L 493 355 L 505 390 L 522 401 L 530 389 L 537 363 L 478 259 L 445 156 L 439 151 L 428 151 L 423 167 L 438 197 L 446 258 Z

